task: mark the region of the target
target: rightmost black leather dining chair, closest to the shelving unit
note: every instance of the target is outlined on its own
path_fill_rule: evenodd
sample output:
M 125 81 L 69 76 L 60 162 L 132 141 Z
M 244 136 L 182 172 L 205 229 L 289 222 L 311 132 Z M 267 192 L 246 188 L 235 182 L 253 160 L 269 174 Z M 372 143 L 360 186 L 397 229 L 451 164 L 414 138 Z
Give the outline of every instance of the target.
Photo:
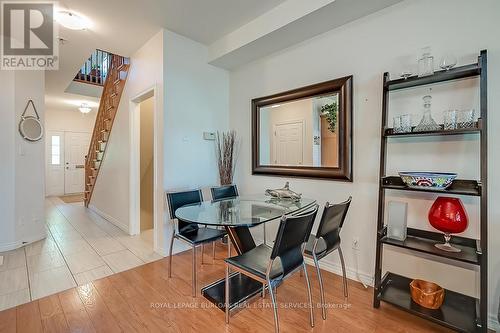
M 321 315 L 326 319 L 326 305 L 325 293 L 323 290 L 323 279 L 321 278 L 321 270 L 319 269 L 318 261 L 326 257 L 328 254 L 335 250 L 339 251 L 340 263 L 342 265 L 342 279 L 344 285 L 344 297 L 348 297 L 347 292 L 347 278 L 345 273 L 344 256 L 342 255 L 342 248 L 340 247 L 340 231 L 344 225 L 345 217 L 352 197 L 347 201 L 339 204 L 330 205 L 328 202 L 325 204 L 323 215 L 319 223 L 316 235 L 311 234 L 307 241 L 305 255 L 314 260 L 316 271 L 319 279 L 319 289 L 321 293 Z

